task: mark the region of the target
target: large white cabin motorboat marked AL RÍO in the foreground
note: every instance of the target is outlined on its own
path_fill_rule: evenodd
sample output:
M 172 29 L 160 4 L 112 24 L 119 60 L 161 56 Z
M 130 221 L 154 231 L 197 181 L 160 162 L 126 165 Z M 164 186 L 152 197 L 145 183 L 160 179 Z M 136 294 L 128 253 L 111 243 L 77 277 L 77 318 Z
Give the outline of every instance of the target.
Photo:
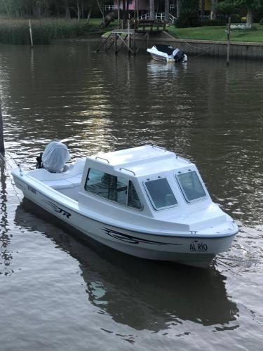
M 140 258 L 196 267 L 208 267 L 231 246 L 238 227 L 213 203 L 191 161 L 144 145 L 65 167 L 63 152 L 45 150 L 48 169 L 15 168 L 15 185 L 88 237 Z

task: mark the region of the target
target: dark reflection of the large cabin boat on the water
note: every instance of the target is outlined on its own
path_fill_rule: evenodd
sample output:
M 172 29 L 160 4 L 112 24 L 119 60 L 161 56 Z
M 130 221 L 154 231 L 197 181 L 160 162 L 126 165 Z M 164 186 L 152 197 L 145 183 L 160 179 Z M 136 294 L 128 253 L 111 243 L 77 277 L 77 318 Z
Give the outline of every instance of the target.
M 86 245 L 27 199 L 18 206 L 15 223 L 30 232 L 44 230 L 58 249 L 76 258 L 89 302 L 117 323 L 157 332 L 184 321 L 224 329 L 236 320 L 236 303 L 227 298 L 225 277 L 215 268 L 198 270 L 133 258 L 92 239 Z

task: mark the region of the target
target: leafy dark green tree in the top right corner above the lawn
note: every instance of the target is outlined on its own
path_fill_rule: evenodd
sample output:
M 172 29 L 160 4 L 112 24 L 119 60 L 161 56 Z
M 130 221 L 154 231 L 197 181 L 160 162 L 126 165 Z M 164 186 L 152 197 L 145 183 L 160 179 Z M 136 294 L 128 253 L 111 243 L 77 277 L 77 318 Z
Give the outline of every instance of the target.
M 224 8 L 243 8 L 247 12 L 247 24 L 252 25 L 255 11 L 263 7 L 263 0 L 224 0 L 217 5 L 218 10 Z

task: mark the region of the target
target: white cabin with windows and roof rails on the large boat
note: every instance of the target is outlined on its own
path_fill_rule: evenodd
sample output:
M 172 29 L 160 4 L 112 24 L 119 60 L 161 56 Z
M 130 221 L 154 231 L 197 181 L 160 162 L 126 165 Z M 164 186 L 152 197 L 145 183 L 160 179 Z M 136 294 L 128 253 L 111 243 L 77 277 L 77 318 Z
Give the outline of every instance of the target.
M 102 198 L 148 216 L 209 198 L 194 164 L 151 145 L 87 157 L 79 194 L 83 205 Z

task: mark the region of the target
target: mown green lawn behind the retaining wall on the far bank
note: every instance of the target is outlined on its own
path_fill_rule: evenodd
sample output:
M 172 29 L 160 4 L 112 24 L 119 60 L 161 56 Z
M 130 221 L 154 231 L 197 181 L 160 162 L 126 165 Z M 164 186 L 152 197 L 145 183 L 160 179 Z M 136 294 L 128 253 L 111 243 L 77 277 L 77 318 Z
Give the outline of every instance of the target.
M 226 40 L 226 29 L 227 26 L 195 28 L 176 28 L 170 26 L 169 33 L 177 39 Z M 263 25 L 254 25 L 253 29 L 231 30 L 230 40 L 263 42 Z

